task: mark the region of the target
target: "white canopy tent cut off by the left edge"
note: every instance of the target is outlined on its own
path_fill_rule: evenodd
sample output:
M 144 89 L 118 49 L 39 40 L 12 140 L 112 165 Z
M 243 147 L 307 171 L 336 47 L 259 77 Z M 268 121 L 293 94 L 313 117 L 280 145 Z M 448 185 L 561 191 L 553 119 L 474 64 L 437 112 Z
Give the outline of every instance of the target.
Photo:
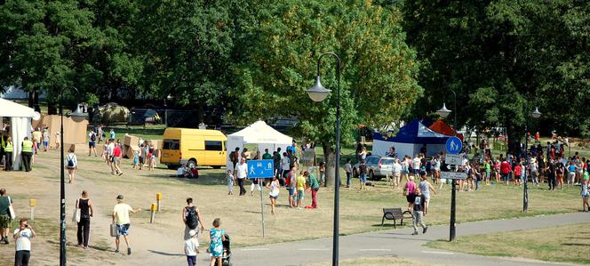
M 10 133 L 12 139 L 12 169 L 20 169 L 20 151 L 22 141 L 25 137 L 31 138 L 31 118 L 40 117 L 34 109 L 18 104 L 13 101 L 0 99 L 0 120 L 1 117 L 10 117 Z

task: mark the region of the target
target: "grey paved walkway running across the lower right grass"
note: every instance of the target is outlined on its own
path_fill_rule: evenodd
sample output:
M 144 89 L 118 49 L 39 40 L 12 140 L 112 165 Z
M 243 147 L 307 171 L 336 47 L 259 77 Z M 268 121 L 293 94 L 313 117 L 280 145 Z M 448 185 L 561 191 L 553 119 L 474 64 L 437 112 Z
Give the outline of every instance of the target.
M 457 237 L 509 230 L 530 230 L 590 221 L 590 214 L 555 214 L 530 218 L 466 222 L 457 225 Z M 428 241 L 449 238 L 449 226 L 431 226 L 427 234 L 413 229 L 385 230 L 340 237 L 340 260 L 356 257 L 398 256 L 414 261 L 448 265 L 567 265 L 521 258 L 488 257 L 424 247 Z M 234 250 L 234 265 L 299 265 L 331 262 L 331 238 L 250 246 Z

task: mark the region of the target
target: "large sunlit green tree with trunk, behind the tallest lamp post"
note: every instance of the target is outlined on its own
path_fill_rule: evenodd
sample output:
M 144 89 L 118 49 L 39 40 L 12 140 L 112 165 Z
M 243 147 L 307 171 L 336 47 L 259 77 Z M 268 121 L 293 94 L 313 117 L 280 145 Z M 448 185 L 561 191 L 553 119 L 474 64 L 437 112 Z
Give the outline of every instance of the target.
M 352 141 L 357 125 L 386 125 L 399 119 L 422 93 L 415 52 L 405 43 L 402 16 L 371 1 L 268 1 L 247 28 L 247 60 L 235 66 L 230 91 L 239 123 L 298 117 L 304 138 L 321 143 L 334 165 L 335 93 L 323 102 L 306 93 L 314 83 L 316 59 L 326 51 L 342 60 L 341 133 Z M 322 62 L 323 85 L 336 90 L 335 60 Z M 333 184 L 333 167 L 328 182 Z

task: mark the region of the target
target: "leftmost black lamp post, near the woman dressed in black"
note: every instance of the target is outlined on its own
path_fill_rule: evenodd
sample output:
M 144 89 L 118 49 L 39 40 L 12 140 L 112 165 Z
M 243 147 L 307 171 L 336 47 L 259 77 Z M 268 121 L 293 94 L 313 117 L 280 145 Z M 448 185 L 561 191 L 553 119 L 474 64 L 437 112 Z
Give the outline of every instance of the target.
M 76 94 L 80 94 L 76 87 L 71 87 L 76 91 Z M 60 266 L 66 265 L 66 182 L 65 182 L 65 170 L 64 170 L 64 152 L 63 152 L 63 92 L 60 92 Z M 86 115 L 80 110 L 78 106 L 74 113 L 70 114 L 71 117 L 77 119 L 79 117 L 86 117 Z

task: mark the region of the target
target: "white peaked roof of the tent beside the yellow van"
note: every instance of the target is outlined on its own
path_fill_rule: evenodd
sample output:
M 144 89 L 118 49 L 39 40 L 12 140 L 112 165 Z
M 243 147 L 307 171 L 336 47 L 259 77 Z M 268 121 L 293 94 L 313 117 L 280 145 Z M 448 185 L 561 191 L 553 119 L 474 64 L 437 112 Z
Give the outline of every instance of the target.
M 227 139 L 243 138 L 244 143 L 291 144 L 293 138 L 276 131 L 264 121 L 256 121 L 241 131 L 227 135 Z

